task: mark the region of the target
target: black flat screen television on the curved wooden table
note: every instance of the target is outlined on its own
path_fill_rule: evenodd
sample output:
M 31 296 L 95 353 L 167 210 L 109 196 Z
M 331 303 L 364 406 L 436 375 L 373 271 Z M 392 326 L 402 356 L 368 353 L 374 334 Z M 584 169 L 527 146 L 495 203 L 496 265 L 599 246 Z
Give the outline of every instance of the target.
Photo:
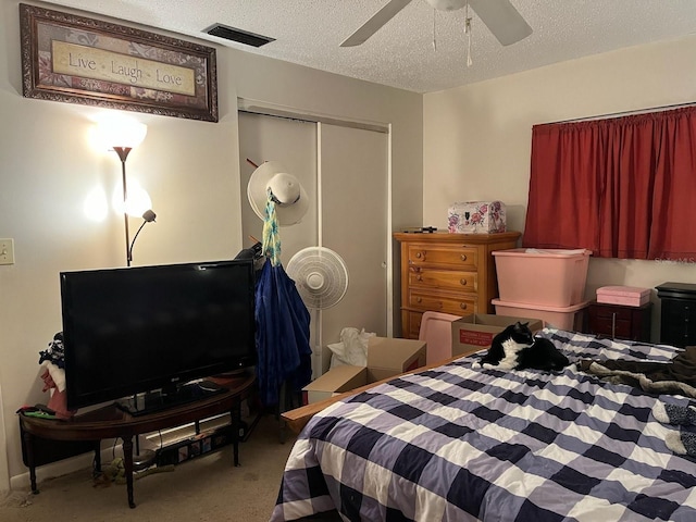
M 256 364 L 251 259 L 61 272 L 67 408 L 134 414 L 191 399 L 183 384 Z M 147 394 L 146 394 L 147 395 Z M 119 401 L 119 399 L 124 399 Z

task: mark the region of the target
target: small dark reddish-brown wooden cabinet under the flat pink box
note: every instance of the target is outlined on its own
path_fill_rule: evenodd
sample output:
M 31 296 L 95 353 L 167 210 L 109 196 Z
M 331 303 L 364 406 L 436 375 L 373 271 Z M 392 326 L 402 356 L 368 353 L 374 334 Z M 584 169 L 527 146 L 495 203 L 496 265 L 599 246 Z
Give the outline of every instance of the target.
M 587 309 L 588 333 L 612 339 L 650 343 L 652 303 L 641 307 L 592 301 Z

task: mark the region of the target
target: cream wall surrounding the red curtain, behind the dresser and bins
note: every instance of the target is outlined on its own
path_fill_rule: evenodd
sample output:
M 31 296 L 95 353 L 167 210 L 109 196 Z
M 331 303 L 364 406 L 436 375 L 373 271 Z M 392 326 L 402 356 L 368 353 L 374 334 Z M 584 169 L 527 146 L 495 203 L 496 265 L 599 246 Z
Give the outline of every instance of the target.
M 447 226 L 453 201 L 499 199 L 524 231 L 532 126 L 696 101 L 696 37 L 625 49 L 424 96 L 423 221 Z M 560 202 L 562 204 L 562 202 Z M 588 209 L 591 211 L 591 209 Z M 696 265 L 592 259 L 597 287 L 696 283 Z M 659 299 L 652 290 L 652 337 Z

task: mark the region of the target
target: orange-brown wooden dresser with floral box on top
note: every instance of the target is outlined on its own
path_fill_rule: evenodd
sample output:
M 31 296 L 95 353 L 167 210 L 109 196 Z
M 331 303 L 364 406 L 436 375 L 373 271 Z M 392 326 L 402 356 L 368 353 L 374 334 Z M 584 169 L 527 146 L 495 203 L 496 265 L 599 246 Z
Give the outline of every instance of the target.
M 395 233 L 401 244 L 401 337 L 418 339 L 423 312 L 495 313 L 498 297 L 490 252 L 517 247 L 519 232 Z

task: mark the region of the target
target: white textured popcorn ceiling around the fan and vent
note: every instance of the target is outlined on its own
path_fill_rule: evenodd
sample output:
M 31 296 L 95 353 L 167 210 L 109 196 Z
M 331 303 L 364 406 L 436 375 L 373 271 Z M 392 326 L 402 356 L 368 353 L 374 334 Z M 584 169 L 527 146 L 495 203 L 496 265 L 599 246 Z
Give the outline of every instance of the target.
M 432 92 L 624 47 L 696 34 L 696 0 L 511 0 L 532 26 L 502 47 L 464 10 L 412 0 L 359 47 L 340 42 L 387 0 L 48 0 L 345 76 Z M 275 38 L 259 49 L 203 33 L 221 23 Z M 433 46 L 433 30 L 436 49 Z

